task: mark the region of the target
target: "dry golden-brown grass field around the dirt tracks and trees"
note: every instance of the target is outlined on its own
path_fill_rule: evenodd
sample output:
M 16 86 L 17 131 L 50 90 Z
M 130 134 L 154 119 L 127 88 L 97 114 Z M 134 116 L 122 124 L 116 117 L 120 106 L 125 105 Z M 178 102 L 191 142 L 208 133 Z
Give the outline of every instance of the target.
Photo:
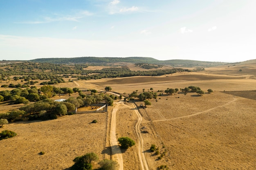
M 199 86 L 204 92 L 211 88 L 213 93 L 202 96 L 164 94 L 150 99 L 151 106 L 138 107 L 143 118 L 141 128 L 145 126 L 149 132 L 142 134 L 149 169 L 167 165 L 169 170 L 255 170 L 256 64 L 233 65 L 161 77 L 107 78 L 56 86 L 101 90 L 111 86 L 112 91 L 126 95 L 150 88 L 154 92 L 191 85 Z M 135 101 L 137 106 L 142 103 Z M 8 110 L 6 107 L 8 105 L 1 103 L 0 113 Z M 111 110 L 4 125 L 1 131 L 13 130 L 18 135 L 0 141 L 0 170 L 68 170 L 76 156 L 88 152 L 97 153 L 100 159 L 110 159 L 110 115 Z M 90 124 L 93 119 L 99 123 Z M 130 102 L 118 107 L 117 137 L 128 136 L 136 142 L 132 148 L 122 150 L 125 170 L 141 170 L 136 122 L 137 115 Z M 151 144 L 159 147 L 160 153 L 165 152 L 161 160 L 149 151 Z M 45 155 L 38 155 L 41 151 Z

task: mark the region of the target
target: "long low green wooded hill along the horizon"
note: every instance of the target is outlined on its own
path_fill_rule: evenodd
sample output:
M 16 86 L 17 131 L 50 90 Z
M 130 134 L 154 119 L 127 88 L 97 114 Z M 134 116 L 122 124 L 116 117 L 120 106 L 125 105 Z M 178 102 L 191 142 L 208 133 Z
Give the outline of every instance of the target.
M 161 64 L 175 67 L 211 67 L 228 64 L 225 62 L 204 62 L 196 60 L 156 60 L 151 57 L 75 57 L 75 58 L 39 58 L 29 62 L 43 62 L 52 64 L 107 64 L 117 62 Z

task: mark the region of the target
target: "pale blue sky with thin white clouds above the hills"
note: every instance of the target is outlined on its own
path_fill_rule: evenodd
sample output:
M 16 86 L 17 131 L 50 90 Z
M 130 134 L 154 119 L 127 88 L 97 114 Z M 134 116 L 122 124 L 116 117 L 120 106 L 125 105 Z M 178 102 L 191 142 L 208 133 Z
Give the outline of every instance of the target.
M 0 0 L 0 60 L 256 59 L 256 0 Z

